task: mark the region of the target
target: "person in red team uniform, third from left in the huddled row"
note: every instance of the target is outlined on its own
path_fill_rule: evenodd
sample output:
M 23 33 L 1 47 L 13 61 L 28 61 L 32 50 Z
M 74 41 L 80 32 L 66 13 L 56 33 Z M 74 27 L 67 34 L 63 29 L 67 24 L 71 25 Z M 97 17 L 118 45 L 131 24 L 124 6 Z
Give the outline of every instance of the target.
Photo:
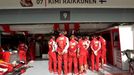
M 77 60 L 77 45 L 78 42 L 75 40 L 75 36 L 72 35 L 71 39 L 69 41 L 69 48 L 68 48 L 68 54 L 69 54 L 69 74 L 72 73 L 72 68 L 74 68 L 74 74 L 78 74 L 78 60 Z M 72 66 L 74 65 L 74 67 Z

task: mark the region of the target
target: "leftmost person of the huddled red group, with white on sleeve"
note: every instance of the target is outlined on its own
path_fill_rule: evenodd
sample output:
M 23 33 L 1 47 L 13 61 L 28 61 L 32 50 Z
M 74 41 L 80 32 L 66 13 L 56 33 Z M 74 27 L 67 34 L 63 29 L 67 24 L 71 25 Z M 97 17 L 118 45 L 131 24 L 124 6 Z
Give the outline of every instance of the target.
M 48 42 L 49 46 L 49 72 L 56 73 L 57 72 L 57 59 L 56 59 L 56 51 L 57 51 L 57 44 L 55 42 L 55 37 L 52 36 Z

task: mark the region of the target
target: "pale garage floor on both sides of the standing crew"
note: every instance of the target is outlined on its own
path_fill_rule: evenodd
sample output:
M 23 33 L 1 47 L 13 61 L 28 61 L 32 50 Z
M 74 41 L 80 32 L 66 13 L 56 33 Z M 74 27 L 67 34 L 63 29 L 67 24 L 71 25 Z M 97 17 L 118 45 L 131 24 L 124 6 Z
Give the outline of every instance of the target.
M 33 66 L 32 68 L 27 69 L 26 73 L 23 75 L 54 75 L 50 74 L 48 71 L 48 60 L 37 60 L 28 65 Z M 128 71 L 122 71 L 116 67 L 106 65 L 103 69 L 100 69 L 100 72 L 92 72 L 88 70 L 85 75 L 129 75 Z

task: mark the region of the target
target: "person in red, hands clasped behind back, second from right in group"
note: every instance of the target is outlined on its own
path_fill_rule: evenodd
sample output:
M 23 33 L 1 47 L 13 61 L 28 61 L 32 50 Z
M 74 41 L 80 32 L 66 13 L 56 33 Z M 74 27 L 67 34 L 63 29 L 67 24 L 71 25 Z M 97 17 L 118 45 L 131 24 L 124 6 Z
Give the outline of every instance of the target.
M 101 55 L 101 42 L 97 40 L 96 37 L 93 37 L 91 41 L 91 70 L 94 71 L 94 67 L 96 67 L 96 71 L 99 71 L 99 58 Z

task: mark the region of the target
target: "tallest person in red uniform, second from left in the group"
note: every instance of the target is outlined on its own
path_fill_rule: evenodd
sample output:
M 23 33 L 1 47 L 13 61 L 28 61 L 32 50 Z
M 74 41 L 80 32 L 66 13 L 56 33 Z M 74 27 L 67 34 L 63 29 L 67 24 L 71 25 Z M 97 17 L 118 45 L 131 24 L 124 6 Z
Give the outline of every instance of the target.
M 58 51 L 58 74 L 61 75 L 62 71 L 62 60 L 64 62 L 64 75 L 67 75 L 67 62 L 68 62 L 68 47 L 69 47 L 69 40 L 64 35 L 64 32 L 59 34 L 59 37 L 56 39 L 57 43 L 57 51 Z

